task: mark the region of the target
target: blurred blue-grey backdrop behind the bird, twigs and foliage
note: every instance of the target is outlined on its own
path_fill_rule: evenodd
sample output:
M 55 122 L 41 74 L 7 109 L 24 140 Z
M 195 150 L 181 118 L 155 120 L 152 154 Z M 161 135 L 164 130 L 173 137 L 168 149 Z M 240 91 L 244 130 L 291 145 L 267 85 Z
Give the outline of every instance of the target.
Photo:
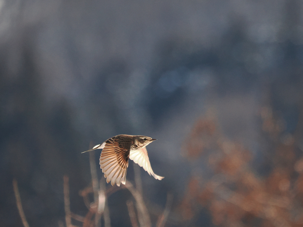
M 158 139 L 149 158 L 165 178 L 142 170 L 143 195 L 163 209 L 172 192 L 177 206 L 192 171 L 205 168 L 182 155 L 202 116 L 257 156 L 263 173 L 269 145 L 260 109 L 270 106 L 283 121 L 282 136 L 302 120 L 302 7 L 298 0 L 0 0 L 1 225 L 22 226 L 13 178 L 31 227 L 64 221 L 64 174 L 72 212 L 85 215 L 78 191 L 91 176 L 81 152 L 118 134 Z M 127 179 L 133 175 L 130 164 Z M 111 201 L 112 226 L 130 226 L 126 206 Z M 212 225 L 207 217 L 196 225 Z

